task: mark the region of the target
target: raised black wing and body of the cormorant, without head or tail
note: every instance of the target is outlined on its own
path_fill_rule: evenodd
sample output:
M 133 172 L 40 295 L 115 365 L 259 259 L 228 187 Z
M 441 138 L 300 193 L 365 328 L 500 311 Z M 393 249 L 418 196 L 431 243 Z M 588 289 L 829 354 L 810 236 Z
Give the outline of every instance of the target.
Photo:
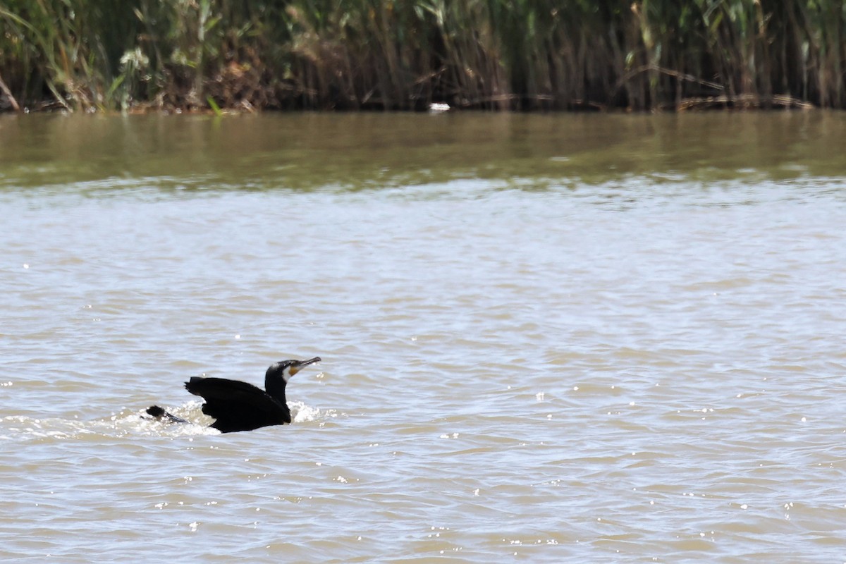
M 287 405 L 247 382 L 195 376 L 185 389 L 205 398 L 203 413 L 217 419 L 211 426 L 222 433 L 291 422 Z

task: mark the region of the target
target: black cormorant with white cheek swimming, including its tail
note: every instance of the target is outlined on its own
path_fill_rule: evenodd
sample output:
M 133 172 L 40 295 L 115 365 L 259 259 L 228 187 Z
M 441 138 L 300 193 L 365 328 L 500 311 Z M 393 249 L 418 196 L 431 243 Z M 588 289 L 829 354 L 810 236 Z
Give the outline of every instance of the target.
M 282 360 L 270 365 L 265 373 L 265 390 L 237 380 L 194 376 L 185 382 L 185 389 L 203 397 L 203 413 L 215 418 L 211 427 L 221 433 L 249 431 L 291 422 L 291 410 L 285 399 L 285 386 L 291 376 L 320 357 L 308 360 Z M 147 408 L 156 419 L 184 422 L 157 405 Z

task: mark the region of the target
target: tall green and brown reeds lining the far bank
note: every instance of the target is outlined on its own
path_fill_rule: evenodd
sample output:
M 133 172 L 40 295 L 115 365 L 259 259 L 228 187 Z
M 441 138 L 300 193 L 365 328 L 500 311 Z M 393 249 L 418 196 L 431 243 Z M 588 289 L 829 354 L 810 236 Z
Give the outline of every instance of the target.
M 433 104 L 843 109 L 846 7 L 842 0 L 0 0 L 0 111 Z

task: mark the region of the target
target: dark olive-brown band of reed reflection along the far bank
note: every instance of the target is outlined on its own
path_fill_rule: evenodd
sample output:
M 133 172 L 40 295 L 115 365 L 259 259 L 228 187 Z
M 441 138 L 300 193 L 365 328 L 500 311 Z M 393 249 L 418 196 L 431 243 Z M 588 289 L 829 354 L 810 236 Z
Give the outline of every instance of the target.
M 149 178 L 165 189 L 358 190 L 482 178 L 543 189 L 641 176 L 788 180 L 841 174 L 844 132 L 846 115 L 835 112 L 3 116 L 0 186 Z

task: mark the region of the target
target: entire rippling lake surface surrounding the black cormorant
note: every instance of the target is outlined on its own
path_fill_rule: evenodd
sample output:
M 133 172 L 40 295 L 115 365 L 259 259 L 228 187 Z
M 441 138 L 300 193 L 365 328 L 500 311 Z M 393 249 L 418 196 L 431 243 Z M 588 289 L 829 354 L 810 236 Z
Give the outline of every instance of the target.
M 844 155 L 828 112 L 0 117 L 0 559 L 846 561 Z M 289 426 L 182 387 L 316 355 Z

